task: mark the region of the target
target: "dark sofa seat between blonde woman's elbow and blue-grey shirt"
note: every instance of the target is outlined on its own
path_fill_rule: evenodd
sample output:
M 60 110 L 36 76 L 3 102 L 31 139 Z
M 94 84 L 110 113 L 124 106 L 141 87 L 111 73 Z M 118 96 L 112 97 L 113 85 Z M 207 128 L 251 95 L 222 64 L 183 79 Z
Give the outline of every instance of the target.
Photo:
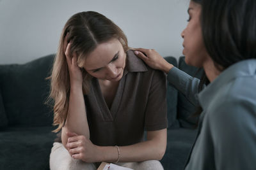
M 184 169 L 196 132 L 196 129 L 168 129 L 166 152 L 160 161 L 164 169 Z

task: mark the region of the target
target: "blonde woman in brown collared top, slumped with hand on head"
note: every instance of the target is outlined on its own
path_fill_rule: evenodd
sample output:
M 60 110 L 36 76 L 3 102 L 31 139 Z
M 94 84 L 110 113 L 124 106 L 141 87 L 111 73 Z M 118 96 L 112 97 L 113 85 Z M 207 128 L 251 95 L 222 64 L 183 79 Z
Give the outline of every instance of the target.
M 54 132 L 61 131 L 50 155 L 52 170 L 97 169 L 103 161 L 163 169 L 158 160 L 166 150 L 165 75 L 138 59 L 108 18 L 86 11 L 67 21 L 50 97 Z

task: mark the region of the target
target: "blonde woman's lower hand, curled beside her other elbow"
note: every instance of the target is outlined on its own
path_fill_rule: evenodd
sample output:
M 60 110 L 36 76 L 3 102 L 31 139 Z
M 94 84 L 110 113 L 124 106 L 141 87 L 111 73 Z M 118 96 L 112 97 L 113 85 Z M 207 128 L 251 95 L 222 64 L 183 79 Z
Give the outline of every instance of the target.
M 84 162 L 99 162 L 100 152 L 90 139 L 72 132 L 67 132 L 67 136 L 67 150 L 72 158 Z

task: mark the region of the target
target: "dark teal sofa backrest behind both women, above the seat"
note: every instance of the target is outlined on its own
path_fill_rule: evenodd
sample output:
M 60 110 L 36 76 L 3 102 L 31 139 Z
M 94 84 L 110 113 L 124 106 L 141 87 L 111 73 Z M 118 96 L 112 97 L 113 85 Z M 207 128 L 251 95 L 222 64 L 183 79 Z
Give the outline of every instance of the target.
M 44 102 L 49 95 L 54 55 L 47 55 L 26 64 L 0 65 L 0 127 L 6 125 L 44 126 L 52 124 L 52 108 Z M 177 67 L 174 57 L 164 57 Z M 188 66 L 184 57 L 179 69 L 191 76 L 200 77 L 202 71 Z M 168 127 L 194 127 L 197 118 L 190 117 L 195 106 L 170 83 L 167 86 Z

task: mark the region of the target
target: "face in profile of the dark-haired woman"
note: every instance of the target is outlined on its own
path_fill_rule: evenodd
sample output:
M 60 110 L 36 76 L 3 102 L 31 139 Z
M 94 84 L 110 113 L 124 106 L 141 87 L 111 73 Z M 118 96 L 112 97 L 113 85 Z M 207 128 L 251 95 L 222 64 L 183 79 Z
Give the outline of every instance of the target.
M 200 24 L 200 13 L 201 5 L 190 1 L 188 25 L 181 33 L 184 39 L 182 44 L 184 50 L 182 53 L 186 56 L 185 61 L 187 64 L 196 67 L 202 67 L 207 57 Z

